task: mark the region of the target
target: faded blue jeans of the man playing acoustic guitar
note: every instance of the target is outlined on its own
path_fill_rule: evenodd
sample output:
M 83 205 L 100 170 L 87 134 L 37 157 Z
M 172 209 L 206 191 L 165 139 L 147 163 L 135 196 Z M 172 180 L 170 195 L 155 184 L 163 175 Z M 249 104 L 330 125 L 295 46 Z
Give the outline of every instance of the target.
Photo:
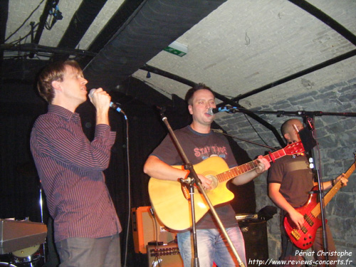
M 246 265 L 244 236 L 242 236 L 239 227 L 226 229 L 232 244 L 236 248 L 241 261 Z M 191 231 L 177 234 L 180 254 L 183 258 L 184 267 L 192 266 L 193 239 Z M 197 229 L 197 247 L 199 266 L 211 267 L 215 262 L 219 267 L 235 267 L 239 263 L 232 253 L 224 234 L 219 229 Z

